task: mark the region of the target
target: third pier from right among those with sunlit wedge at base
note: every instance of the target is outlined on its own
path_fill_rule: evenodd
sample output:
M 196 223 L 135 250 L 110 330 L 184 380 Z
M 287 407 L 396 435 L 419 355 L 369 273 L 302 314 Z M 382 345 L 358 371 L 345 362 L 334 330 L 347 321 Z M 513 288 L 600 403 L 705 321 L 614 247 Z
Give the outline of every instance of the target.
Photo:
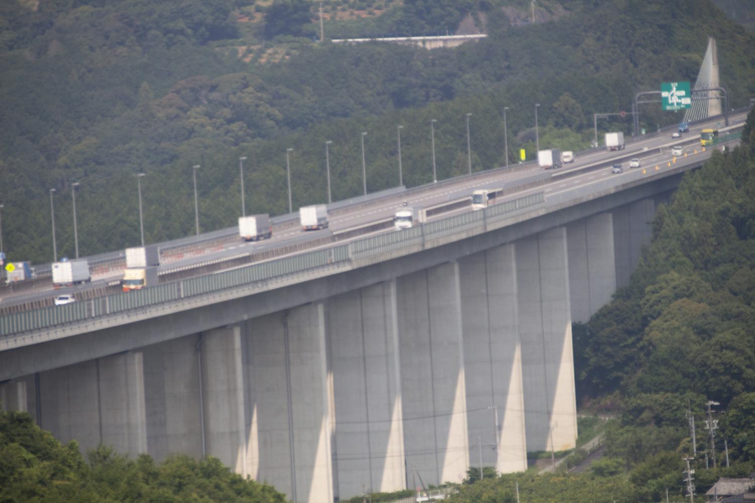
M 449 262 L 396 280 L 406 465 L 425 483 L 469 468 L 458 271 Z

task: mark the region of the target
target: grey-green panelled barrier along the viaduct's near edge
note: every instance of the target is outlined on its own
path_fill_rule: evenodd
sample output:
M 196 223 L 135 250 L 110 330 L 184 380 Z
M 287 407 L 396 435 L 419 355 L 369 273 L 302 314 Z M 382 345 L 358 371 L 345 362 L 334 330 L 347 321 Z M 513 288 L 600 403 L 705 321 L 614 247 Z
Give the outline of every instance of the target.
M 316 268 L 342 262 L 356 262 L 388 252 L 414 253 L 430 246 L 438 246 L 445 239 L 451 241 L 460 232 L 485 232 L 488 222 L 498 222 L 518 213 L 532 210 L 545 202 L 543 192 L 506 201 L 485 210 L 462 213 L 435 222 L 417 225 L 401 232 L 387 232 L 349 244 L 300 253 L 280 259 L 236 268 L 233 271 L 188 278 L 156 287 L 114 293 L 72 304 L 33 309 L 0 316 L 0 336 L 40 330 L 55 325 L 73 323 L 106 314 L 145 308 L 190 296 L 200 296 L 233 287 L 298 275 Z M 359 266 L 359 265 L 356 265 Z

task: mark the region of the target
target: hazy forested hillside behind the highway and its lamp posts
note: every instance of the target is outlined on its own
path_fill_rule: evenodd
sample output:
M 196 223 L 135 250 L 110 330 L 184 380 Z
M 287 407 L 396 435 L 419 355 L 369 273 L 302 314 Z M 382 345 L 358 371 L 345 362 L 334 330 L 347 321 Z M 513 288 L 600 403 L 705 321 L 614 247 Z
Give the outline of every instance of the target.
M 719 42 L 730 104 L 755 94 L 755 38 L 710 0 L 550 0 L 538 9 L 558 16 L 529 26 L 507 17 L 526 12 L 519 0 L 388 6 L 387 31 L 428 23 L 443 31 L 471 15 L 488 32 L 436 51 L 295 38 L 307 32 L 301 23 L 317 26 L 314 10 L 298 15 L 301 3 L 2 2 L 0 204 L 9 258 L 51 260 L 51 188 L 59 255 L 72 254 L 72 182 L 81 184 L 79 247 L 88 255 L 138 244 L 140 172 L 146 241 L 156 242 L 193 232 L 195 164 L 200 223 L 211 230 L 239 216 L 240 156 L 248 158 L 247 211 L 279 214 L 288 210 L 287 148 L 294 207 L 325 200 L 325 140 L 334 142 L 334 198 L 359 195 L 360 131 L 368 132 L 371 192 L 398 183 L 398 124 L 408 186 L 431 178 L 431 118 L 440 178 L 467 169 L 467 112 L 474 170 L 503 162 L 504 106 L 510 159 L 519 148 L 532 156 L 535 103 L 541 145 L 578 150 L 590 143 L 593 112 L 628 109 L 636 90 L 660 81 L 694 80 L 707 35 Z M 254 29 L 238 22 L 250 11 L 262 20 Z M 277 34 L 266 35 L 270 26 Z M 295 41 L 295 50 L 279 63 L 245 63 L 231 49 L 247 36 L 266 47 Z M 655 107 L 642 118 L 650 128 L 679 120 Z M 601 124 L 608 127 L 628 132 L 628 121 Z

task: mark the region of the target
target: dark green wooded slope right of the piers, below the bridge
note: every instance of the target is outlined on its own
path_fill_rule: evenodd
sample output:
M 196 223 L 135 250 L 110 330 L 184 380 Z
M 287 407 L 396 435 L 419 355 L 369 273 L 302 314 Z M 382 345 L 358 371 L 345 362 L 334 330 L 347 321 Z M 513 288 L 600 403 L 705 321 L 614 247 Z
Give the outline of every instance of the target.
M 670 501 L 686 500 L 688 411 L 697 424 L 696 501 L 719 477 L 755 471 L 753 124 L 755 110 L 743 146 L 716 152 L 685 175 L 658 210 L 630 286 L 589 323 L 575 325 L 583 413 L 621 413 L 609 428 L 606 457 L 583 474 L 482 480 L 451 501 L 513 503 L 515 483 L 521 501 L 531 503 L 665 501 L 666 489 Z M 719 425 L 716 469 L 704 429 L 709 400 Z

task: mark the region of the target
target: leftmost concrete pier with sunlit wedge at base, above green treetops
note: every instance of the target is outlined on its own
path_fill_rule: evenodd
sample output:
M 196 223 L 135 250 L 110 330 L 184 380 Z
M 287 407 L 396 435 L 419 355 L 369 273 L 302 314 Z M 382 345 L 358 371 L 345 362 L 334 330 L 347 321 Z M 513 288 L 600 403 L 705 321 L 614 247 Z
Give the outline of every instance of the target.
M 202 337 L 202 403 L 208 455 L 245 476 L 244 382 L 239 326 Z

